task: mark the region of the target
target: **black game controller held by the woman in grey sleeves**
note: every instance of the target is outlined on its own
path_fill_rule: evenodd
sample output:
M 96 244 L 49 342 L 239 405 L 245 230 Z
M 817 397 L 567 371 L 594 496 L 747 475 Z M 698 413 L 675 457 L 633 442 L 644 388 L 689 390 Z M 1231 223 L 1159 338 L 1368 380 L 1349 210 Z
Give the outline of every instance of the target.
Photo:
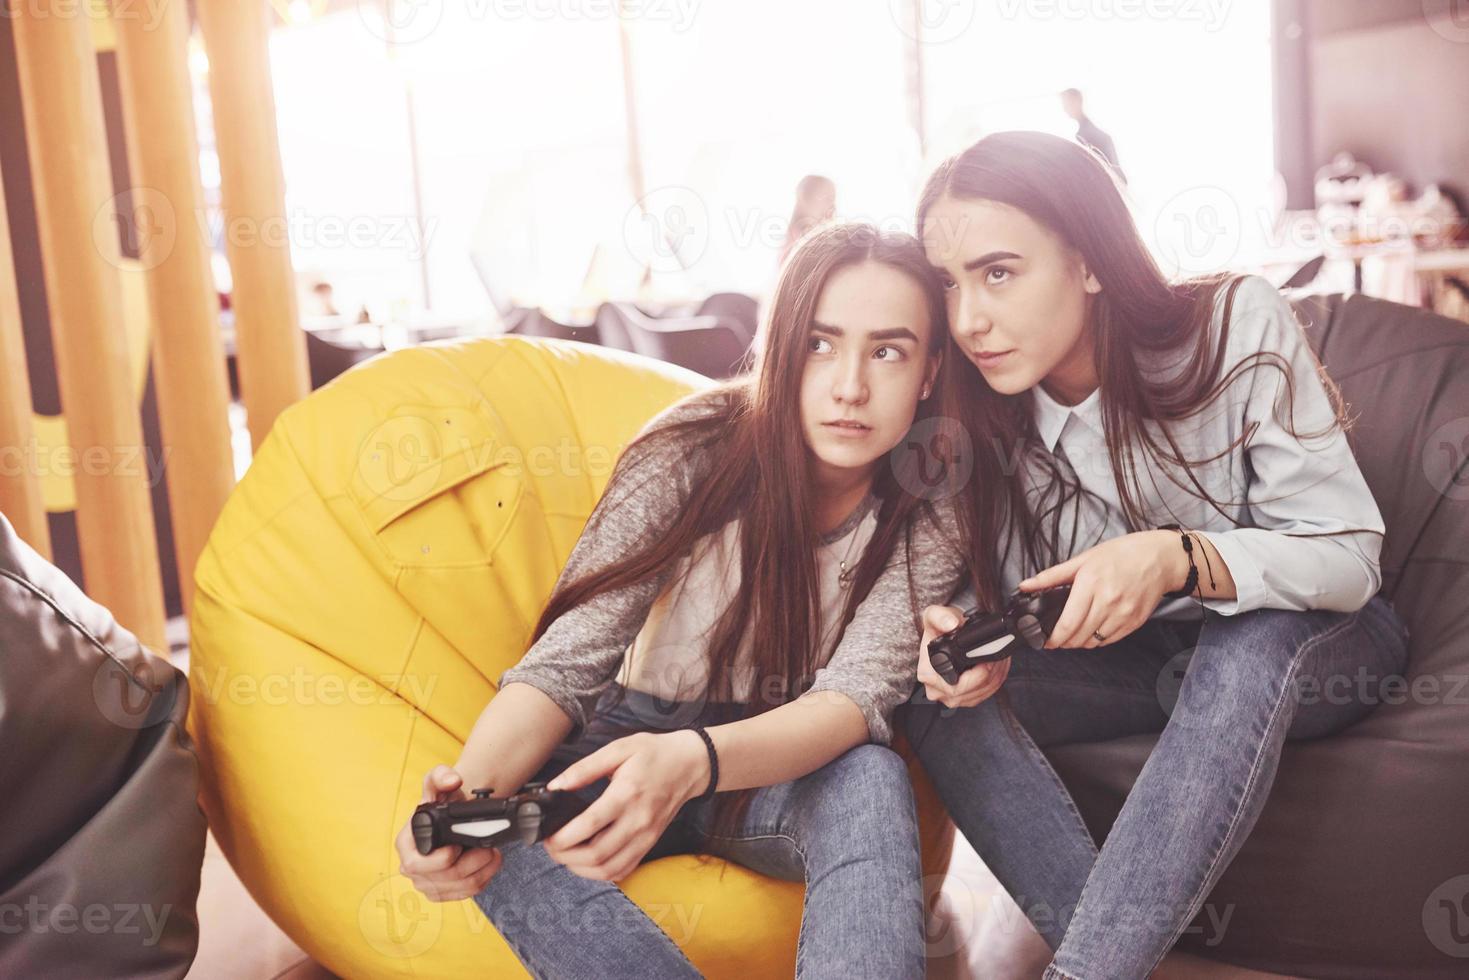
M 576 793 L 526 783 L 514 796 L 491 799 L 492 789 L 476 789 L 474 799 L 419 804 L 413 811 L 413 843 L 429 854 L 457 843 L 463 848 L 498 848 L 520 840 L 526 845 L 549 837 L 586 810 Z

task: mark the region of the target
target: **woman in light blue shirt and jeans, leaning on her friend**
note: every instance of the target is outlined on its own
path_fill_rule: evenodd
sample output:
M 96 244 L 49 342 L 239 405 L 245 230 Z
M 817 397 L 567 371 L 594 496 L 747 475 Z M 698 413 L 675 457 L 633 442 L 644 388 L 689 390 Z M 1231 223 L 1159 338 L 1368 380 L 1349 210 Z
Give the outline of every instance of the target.
M 933 173 L 918 226 L 958 348 L 942 413 L 977 433 L 955 501 L 967 604 L 1071 594 L 1046 649 L 955 685 L 927 639 L 959 610 L 927 610 L 930 704 L 905 726 L 1055 951 L 1046 977 L 1146 977 L 1250 833 L 1284 741 L 1353 723 L 1403 670 L 1382 517 L 1290 306 L 1257 278 L 1169 282 L 1093 153 L 987 137 Z M 1144 732 L 1099 851 L 1042 749 Z

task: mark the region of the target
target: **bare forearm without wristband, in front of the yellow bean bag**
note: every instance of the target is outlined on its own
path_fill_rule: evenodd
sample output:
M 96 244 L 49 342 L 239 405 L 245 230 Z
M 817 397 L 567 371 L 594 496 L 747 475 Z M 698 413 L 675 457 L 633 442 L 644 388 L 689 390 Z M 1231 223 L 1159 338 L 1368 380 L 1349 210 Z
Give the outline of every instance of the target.
M 495 796 L 508 796 L 545 765 L 570 730 L 571 718 L 555 701 L 530 685 L 508 683 L 480 711 L 454 768 L 466 790 L 488 786 Z

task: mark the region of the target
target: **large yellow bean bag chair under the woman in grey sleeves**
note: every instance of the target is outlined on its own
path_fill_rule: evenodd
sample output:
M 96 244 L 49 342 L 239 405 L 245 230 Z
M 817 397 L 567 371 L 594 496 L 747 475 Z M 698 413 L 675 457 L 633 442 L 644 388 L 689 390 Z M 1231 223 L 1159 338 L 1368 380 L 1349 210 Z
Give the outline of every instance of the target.
M 473 902 L 397 873 L 394 836 L 526 651 L 621 448 L 705 383 L 583 344 L 419 347 L 260 448 L 197 567 L 190 729 L 220 846 L 332 971 L 523 976 Z M 952 824 L 917 779 L 942 876 Z M 624 887 L 707 976 L 793 971 L 799 884 L 673 857 Z

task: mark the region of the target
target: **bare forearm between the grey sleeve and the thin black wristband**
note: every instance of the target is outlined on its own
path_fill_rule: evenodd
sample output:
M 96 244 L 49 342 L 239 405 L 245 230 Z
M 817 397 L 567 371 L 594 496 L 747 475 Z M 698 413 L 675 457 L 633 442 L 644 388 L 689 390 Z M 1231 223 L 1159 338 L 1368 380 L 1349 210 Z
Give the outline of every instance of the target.
M 834 691 L 808 693 L 708 733 L 720 757 L 720 792 L 801 779 L 868 741 L 862 710 Z M 707 785 L 705 776 L 701 792 Z

